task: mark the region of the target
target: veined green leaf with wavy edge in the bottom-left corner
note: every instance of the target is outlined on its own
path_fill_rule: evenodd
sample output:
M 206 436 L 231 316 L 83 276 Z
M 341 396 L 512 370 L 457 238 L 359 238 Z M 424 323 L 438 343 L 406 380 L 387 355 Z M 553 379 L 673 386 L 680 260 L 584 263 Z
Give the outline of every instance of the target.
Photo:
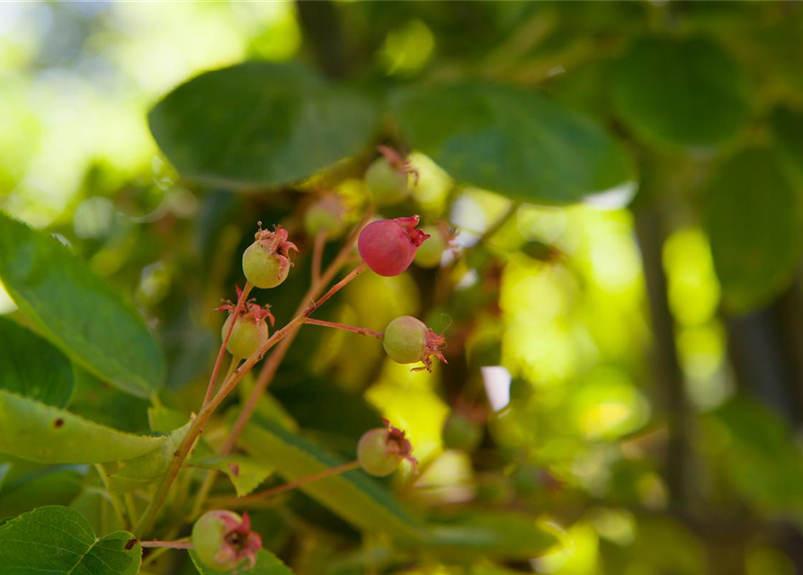
M 41 507 L 0 526 L 0 571 L 136 575 L 142 550 L 138 543 L 129 543 L 133 539 L 126 531 L 98 539 L 89 521 L 74 509 Z

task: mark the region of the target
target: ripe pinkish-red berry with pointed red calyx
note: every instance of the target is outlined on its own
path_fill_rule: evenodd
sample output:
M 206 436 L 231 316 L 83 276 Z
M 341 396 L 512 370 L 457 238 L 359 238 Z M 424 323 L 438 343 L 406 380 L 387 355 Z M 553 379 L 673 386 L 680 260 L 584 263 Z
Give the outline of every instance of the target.
M 410 267 L 418 247 L 429 237 L 416 230 L 418 216 L 380 219 L 361 231 L 357 249 L 368 267 L 380 276 L 397 276 Z

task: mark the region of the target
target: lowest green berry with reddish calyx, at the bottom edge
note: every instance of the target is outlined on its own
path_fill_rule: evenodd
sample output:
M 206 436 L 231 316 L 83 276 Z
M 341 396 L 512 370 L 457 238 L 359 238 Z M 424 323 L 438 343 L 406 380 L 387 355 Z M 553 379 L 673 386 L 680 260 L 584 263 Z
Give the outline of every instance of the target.
M 240 517 L 232 511 L 215 510 L 199 517 L 192 526 L 192 548 L 212 571 L 251 569 L 256 552 L 262 549 L 262 537 L 251 531 L 247 513 Z

